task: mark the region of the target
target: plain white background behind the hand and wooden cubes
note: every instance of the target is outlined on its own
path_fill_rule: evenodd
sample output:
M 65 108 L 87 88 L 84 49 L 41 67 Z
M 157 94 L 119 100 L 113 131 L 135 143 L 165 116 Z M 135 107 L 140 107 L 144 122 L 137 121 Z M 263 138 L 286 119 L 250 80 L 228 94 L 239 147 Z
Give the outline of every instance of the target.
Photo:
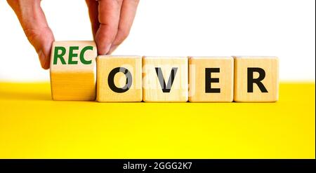
M 84 0 L 44 0 L 58 41 L 92 40 Z M 0 0 L 0 81 L 48 81 L 11 8 Z M 314 0 L 140 0 L 115 55 L 273 55 L 282 81 L 315 81 Z

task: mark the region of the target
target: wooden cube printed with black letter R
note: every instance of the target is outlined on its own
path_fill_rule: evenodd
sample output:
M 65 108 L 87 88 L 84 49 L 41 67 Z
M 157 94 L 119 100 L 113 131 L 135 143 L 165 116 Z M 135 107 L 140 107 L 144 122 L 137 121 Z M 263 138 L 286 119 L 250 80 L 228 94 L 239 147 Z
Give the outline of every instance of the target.
M 235 102 L 277 102 L 277 57 L 235 57 Z

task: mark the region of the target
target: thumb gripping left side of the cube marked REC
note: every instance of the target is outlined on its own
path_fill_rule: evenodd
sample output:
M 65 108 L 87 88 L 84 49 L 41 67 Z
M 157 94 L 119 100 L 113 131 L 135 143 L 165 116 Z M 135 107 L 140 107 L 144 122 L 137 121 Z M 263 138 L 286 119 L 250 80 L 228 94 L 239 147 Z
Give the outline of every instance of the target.
M 15 11 L 27 39 L 37 51 L 41 67 L 49 69 L 51 46 L 55 39 L 41 9 L 41 0 L 8 0 L 8 4 Z

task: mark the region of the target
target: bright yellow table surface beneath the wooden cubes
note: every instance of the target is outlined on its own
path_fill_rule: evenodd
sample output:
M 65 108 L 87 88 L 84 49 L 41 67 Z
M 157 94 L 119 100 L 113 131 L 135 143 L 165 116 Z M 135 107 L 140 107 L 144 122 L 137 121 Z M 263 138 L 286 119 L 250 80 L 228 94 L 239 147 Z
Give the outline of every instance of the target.
M 0 158 L 315 158 L 315 82 L 277 103 L 54 102 L 0 83 Z

